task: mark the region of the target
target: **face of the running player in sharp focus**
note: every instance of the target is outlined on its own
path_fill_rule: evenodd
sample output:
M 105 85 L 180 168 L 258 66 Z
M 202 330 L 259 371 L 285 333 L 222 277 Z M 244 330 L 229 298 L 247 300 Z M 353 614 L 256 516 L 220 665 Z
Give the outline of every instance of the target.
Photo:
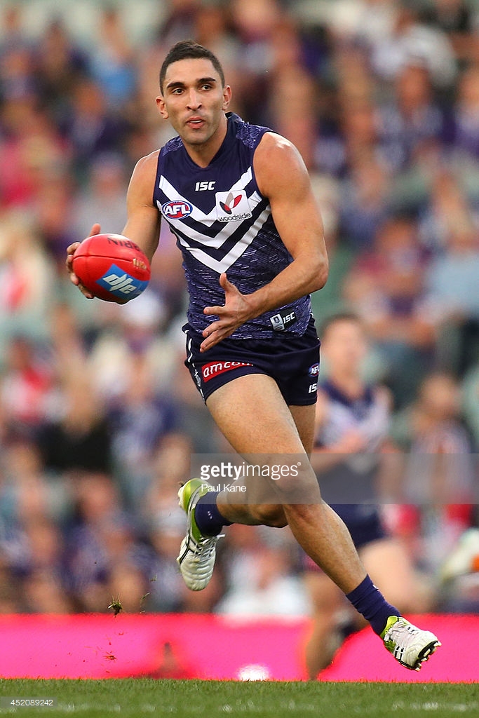
M 157 106 L 185 144 L 201 145 L 220 131 L 230 98 L 210 60 L 178 60 L 167 68 Z

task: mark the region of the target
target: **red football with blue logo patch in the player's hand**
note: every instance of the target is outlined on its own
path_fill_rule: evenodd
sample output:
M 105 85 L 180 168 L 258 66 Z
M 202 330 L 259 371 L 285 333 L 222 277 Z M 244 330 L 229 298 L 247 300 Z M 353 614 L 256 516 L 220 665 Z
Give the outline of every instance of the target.
M 121 234 L 95 234 L 73 255 L 73 271 L 89 292 L 124 304 L 147 288 L 151 270 L 138 245 Z

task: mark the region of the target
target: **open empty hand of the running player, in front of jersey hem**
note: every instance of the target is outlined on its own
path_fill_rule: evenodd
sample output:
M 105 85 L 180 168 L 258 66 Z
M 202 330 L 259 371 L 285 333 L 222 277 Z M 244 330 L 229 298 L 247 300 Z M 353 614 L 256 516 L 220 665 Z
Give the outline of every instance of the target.
M 248 294 L 241 294 L 239 289 L 236 289 L 236 286 L 228 281 L 226 274 L 220 274 L 220 286 L 225 290 L 223 307 L 205 307 L 203 309 L 204 314 L 215 314 L 218 320 L 204 330 L 205 341 L 200 346 L 201 352 L 211 349 L 222 339 L 230 337 L 238 327 L 241 327 L 246 320 L 253 316 Z

